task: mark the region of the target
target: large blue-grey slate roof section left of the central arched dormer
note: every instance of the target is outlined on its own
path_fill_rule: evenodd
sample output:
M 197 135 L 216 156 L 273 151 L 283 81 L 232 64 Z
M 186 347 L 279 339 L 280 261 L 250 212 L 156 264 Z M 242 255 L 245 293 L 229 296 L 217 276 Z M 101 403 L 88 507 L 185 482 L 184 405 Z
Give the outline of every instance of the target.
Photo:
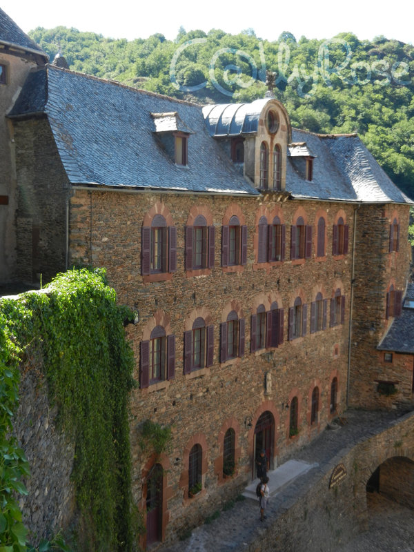
M 206 130 L 201 106 L 46 66 L 31 73 L 9 117 L 47 115 L 72 184 L 258 195 Z M 155 139 L 151 113 L 178 112 L 194 134 L 188 166 Z

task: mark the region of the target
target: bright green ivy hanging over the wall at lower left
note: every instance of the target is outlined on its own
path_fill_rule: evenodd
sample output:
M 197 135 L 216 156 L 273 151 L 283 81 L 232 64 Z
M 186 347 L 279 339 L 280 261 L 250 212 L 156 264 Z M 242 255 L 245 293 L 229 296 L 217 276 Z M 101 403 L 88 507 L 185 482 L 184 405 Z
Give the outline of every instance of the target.
M 10 405 L 1 400 L 1 413 L 8 416 L 6 422 L 0 422 L 1 435 L 11 428 L 18 400 L 18 349 L 10 339 L 12 332 L 27 356 L 43 359 L 41 368 L 50 402 L 57 405 L 58 421 L 75 443 L 72 478 L 81 520 L 80 546 L 102 552 L 131 550 L 128 393 L 134 383 L 134 359 L 124 334 L 129 311 L 117 306 L 115 290 L 106 284 L 105 270 L 85 268 L 59 274 L 43 293 L 29 292 L 17 301 L 3 300 L 1 307 L 8 323 L 3 322 L 6 317 L 2 315 L 0 339 L 8 339 L 8 347 L 5 359 L 1 357 L 0 393 L 10 397 Z M 13 370 L 7 368 L 10 363 Z M 8 377 L 12 382 L 8 383 Z M 9 388 L 3 392 L 4 385 Z M 10 443 L 14 446 L 12 439 L 8 446 Z M 14 449 L 15 469 L 27 475 L 26 459 L 16 446 Z M 16 489 L 19 474 L 14 480 L 11 489 L 25 492 L 23 486 Z M 5 492 L 1 485 L 1 500 Z M 17 540 L 21 546 L 10 552 L 25 551 L 26 529 L 17 506 L 10 512 L 16 519 L 8 533 L 15 535 L 13 545 Z M 6 535 L 6 543 L 10 536 L 3 530 L 3 517 L 0 535 Z M 11 522 L 6 522 L 8 528 Z M 8 549 L 3 551 L 0 546 L 0 552 Z

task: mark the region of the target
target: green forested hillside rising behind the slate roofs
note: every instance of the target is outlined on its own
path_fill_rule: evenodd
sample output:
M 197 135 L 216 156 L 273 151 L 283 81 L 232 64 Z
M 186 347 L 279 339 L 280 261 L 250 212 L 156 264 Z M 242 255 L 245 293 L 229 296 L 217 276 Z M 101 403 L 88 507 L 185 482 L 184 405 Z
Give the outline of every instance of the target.
M 57 27 L 30 32 L 51 59 L 60 49 L 70 69 L 199 103 L 264 97 L 266 70 L 293 126 L 358 132 L 388 175 L 414 199 L 414 46 L 385 37 L 327 41 L 284 32 L 267 41 L 248 29 L 179 30 L 175 41 L 108 39 Z

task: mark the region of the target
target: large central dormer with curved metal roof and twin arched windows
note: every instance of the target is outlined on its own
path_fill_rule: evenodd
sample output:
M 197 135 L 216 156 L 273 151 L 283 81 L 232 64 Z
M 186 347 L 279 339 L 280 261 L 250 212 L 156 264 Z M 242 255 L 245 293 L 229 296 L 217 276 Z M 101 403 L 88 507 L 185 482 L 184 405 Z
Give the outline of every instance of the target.
M 226 149 L 255 188 L 286 188 L 286 155 L 291 139 L 290 119 L 277 99 L 251 103 L 204 106 L 204 120 L 211 137 Z

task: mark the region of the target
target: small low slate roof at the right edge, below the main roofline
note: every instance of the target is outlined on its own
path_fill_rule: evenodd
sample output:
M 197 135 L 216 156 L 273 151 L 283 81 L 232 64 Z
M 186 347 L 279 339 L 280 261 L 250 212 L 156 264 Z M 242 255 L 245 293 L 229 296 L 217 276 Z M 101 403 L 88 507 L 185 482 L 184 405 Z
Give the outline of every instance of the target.
M 393 319 L 384 339 L 377 346 L 379 351 L 414 353 L 414 308 L 404 306 L 406 299 L 414 301 L 414 284 L 408 284 L 402 313 Z

